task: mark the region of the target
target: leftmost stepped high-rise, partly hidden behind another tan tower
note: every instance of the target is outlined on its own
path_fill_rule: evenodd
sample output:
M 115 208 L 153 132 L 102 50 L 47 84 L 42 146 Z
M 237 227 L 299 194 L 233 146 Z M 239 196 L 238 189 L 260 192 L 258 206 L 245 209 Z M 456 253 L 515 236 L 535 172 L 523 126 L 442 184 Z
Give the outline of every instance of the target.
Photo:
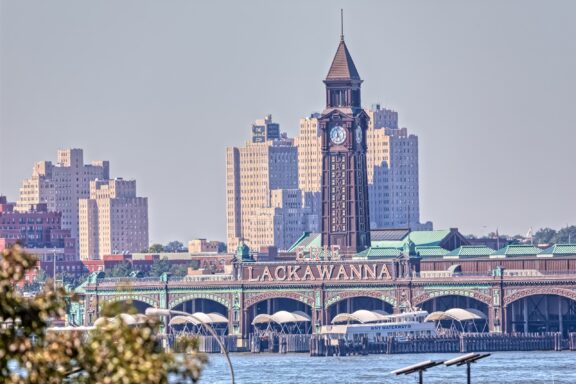
M 79 239 L 78 199 L 89 196 L 92 180 L 109 177 L 108 161 L 84 164 L 82 149 L 59 150 L 56 164 L 39 161 L 34 165 L 32 177 L 22 182 L 16 210 L 27 212 L 32 205 L 46 204 L 48 211 L 62 213 L 62 228 Z

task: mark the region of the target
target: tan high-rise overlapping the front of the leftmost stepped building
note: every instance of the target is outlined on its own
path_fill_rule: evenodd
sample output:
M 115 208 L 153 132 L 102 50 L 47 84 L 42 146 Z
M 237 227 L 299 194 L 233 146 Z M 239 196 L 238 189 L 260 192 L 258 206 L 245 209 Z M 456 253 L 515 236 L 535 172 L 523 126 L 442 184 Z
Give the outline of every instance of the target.
M 148 247 L 148 199 L 136 196 L 135 180 L 94 180 L 80 199 L 80 258 L 140 252 Z

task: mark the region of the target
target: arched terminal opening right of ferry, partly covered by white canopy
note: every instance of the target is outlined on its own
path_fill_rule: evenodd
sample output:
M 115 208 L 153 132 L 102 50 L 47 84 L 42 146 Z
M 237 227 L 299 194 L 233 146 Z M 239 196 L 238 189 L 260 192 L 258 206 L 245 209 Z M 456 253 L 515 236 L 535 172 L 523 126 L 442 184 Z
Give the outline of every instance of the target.
M 450 316 L 437 321 L 440 333 L 450 332 L 488 332 L 488 304 L 469 296 L 447 295 L 426 300 L 420 308 L 428 313 L 446 312 L 453 309 L 464 309 L 476 312 L 478 317 L 474 320 L 462 320 Z

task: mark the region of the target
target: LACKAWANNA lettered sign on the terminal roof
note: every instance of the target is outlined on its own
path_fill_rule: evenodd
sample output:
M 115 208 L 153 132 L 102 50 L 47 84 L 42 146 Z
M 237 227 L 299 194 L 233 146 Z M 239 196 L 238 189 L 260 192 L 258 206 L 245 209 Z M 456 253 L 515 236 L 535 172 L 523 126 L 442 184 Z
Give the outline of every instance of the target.
M 245 265 L 245 281 L 381 281 L 392 280 L 386 263 L 293 263 Z

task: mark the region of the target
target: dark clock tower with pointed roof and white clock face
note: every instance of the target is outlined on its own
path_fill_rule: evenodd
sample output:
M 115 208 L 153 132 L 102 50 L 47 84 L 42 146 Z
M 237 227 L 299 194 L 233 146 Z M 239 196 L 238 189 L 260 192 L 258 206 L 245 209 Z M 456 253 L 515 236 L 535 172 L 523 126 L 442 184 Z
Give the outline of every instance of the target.
M 366 129 L 362 80 L 340 36 L 326 85 L 322 135 L 322 245 L 353 255 L 370 246 Z

